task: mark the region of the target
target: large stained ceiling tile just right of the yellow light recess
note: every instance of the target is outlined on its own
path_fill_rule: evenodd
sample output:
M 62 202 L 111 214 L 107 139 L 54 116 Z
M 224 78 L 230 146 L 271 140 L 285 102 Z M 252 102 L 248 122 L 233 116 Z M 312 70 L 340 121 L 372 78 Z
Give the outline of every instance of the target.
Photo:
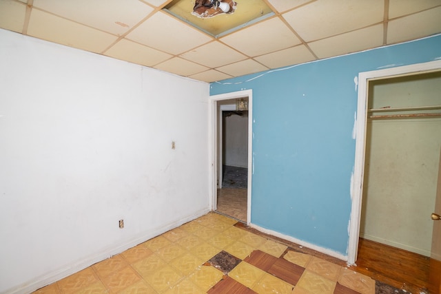
M 384 0 L 315 1 L 283 17 L 299 36 L 309 42 L 367 27 L 383 21 Z

